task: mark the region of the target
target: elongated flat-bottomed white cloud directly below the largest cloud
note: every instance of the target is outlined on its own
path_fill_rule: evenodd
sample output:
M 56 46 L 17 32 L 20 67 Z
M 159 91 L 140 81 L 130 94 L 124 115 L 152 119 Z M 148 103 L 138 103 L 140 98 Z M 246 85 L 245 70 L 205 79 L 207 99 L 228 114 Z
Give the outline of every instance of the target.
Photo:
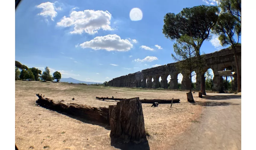
M 105 35 L 95 37 L 91 41 L 80 44 L 82 48 L 92 48 L 94 50 L 105 49 L 107 51 L 129 51 L 133 44 L 127 39 L 121 39 L 118 35 Z

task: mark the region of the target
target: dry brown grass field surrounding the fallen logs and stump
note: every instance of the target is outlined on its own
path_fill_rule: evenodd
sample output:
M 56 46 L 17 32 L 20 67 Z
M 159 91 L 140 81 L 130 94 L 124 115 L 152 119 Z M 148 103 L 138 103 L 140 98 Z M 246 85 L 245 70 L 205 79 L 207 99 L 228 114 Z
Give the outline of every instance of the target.
M 117 92 L 117 93 L 116 93 Z M 66 83 L 15 81 L 15 143 L 19 149 L 115 149 L 110 130 L 105 125 L 80 121 L 61 113 L 36 106 L 36 94 L 53 100 L 108 107 L 116 102 L 98 101 L 96 96 L 114 98 L 179 98 L 179 104 L 142 104 L 145 130 L 150 149 L 168 149 L 175 137 L 183 133 L 201 114 L 199 105 L 186 100 L 186 92 L 139 90 Z M 75 101 L 72 101 L 75 98 Z M 195 101 L 200 101 L 194 93 Z M 48 147 L 47 147 L 48 146 Z

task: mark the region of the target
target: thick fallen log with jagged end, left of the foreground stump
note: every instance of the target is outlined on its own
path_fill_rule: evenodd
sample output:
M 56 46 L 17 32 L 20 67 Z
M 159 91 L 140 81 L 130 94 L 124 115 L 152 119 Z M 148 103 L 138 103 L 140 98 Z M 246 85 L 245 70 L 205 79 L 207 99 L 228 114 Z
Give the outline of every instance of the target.
M 62 111 L 86 120 L 109 124 L 109 109 L 107 107 L 91 107 L 75 103 L 65 104 L 64 100 L 55 102 L 49 98 L 44 98 L 39 94 L 36 94 L 36 96 L 39 98 L 36 100 L 36 103 L 40 106 L 55 111 Z

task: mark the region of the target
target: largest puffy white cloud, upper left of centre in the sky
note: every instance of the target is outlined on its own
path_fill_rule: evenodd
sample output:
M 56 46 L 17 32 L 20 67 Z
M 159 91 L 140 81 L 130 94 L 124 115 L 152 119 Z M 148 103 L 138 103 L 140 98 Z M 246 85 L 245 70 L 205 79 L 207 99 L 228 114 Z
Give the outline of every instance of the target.
M 64 16 L 57 26 L 74 26 L 71 34 L 82 34 L 83 32 L 94 35 L 99 29 L 112 30 L 110 27 L 111 13 L 102 10 L 72 11 L 70 17 Z

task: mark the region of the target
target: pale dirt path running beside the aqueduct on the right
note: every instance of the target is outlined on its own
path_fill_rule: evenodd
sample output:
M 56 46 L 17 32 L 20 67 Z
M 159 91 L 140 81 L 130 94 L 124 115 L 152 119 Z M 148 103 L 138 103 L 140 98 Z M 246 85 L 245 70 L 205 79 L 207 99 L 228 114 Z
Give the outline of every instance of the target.
M 206 96 L 199 122 L 179 138 L 171 150 L 240 150 L 241 149 L 241 95 L 219 94 Z

